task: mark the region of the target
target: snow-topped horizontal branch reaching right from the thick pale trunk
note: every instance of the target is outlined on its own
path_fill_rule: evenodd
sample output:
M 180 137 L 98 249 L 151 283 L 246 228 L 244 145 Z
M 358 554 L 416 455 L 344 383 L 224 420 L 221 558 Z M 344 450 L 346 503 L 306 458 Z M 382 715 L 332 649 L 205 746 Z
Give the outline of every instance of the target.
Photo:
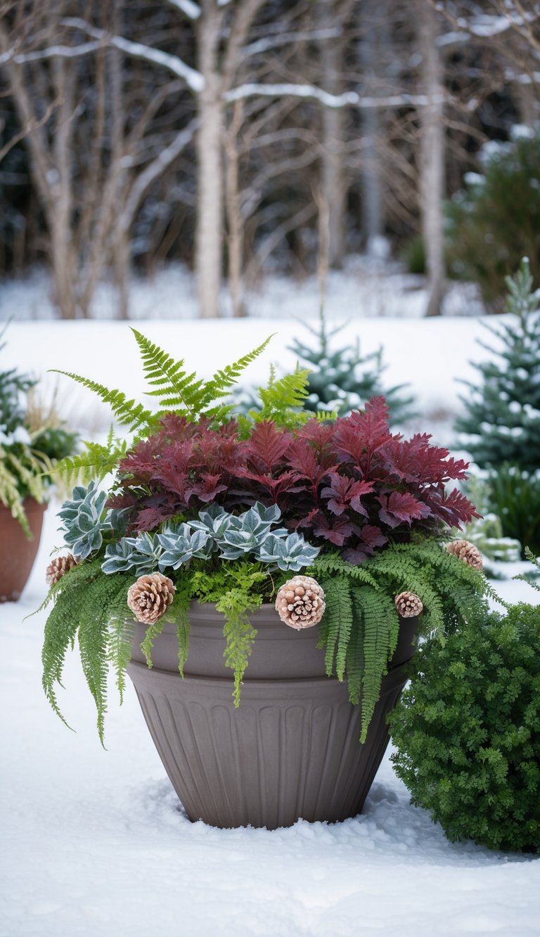
M 246 97 L 302 97 L 319 101 L 326 108 L 343 108 L 352 105 L 356 108 L 398 108 L 425 107 L 427 104 L 441 103 L 445 95 L 390 95 L 389 97 L 363 97 L 356 91 L 346 91 L 342 95 L 331 95 L 323 88 L 313 84 L 241 84 L 232 88 L 224 96 L 227 102 L 243 100 Z

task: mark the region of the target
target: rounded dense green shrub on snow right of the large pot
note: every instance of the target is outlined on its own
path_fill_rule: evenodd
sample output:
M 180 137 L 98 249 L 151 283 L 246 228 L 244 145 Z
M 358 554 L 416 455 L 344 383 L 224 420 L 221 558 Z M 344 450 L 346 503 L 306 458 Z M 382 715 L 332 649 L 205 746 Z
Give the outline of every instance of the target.
M 429 639 L 390 717 L 413 804 L 450 840 L 540 851 L 540 607 L 480 609 Z

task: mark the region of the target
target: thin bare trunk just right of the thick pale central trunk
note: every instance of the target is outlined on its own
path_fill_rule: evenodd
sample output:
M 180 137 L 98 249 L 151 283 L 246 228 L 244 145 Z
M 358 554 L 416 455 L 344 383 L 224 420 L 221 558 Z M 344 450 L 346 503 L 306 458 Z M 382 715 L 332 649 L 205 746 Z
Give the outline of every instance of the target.
M 240 207 L 238 131 L 243 121 L 243 106 L 236 101 L 233 120 L 225 136 L 225 208 L 227 212 L 227 245 L 229 253 L 229 290 L 233 304 L 233 316 L 245 314 L 242 300 L 242 256 L 244 248 L 244 225 Z

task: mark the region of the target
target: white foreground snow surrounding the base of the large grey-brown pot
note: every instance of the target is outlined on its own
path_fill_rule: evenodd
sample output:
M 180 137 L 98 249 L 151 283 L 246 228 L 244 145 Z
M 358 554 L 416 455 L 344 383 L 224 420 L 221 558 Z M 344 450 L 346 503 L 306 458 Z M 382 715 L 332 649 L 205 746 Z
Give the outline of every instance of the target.
M 539 933 L 540 862 L 448 842 L 387 757 L 352 820 L 218 830 L 182 811 L 130 683 L 122 708 L 111 697 L 100 748 L 76 654 L 60 696 L 69 732 L 41 691 L 44 613 L 23 620 L 45 593 L 57 525 L 50 508 L 22 600 L 0 606 L 0 937 Z M 506 600 L 536 595 L 496 587 Z

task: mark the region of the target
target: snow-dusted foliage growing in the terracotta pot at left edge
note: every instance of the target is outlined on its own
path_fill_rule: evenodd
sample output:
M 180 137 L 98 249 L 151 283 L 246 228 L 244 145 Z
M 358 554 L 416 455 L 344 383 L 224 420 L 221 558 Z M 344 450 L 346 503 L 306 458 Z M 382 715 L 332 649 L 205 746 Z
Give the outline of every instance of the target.
M 4 342 L 0 351 L 5 347 Z M 55 461 L 72 453 L 77 442 L 77 434 L 65 428 L 54 404 L 49 409 L 39 406 L 32 393 L 36 383 L 15 368 L 0 371 L 0 502 L 28 538 L 25 499 L 47 499 Z

